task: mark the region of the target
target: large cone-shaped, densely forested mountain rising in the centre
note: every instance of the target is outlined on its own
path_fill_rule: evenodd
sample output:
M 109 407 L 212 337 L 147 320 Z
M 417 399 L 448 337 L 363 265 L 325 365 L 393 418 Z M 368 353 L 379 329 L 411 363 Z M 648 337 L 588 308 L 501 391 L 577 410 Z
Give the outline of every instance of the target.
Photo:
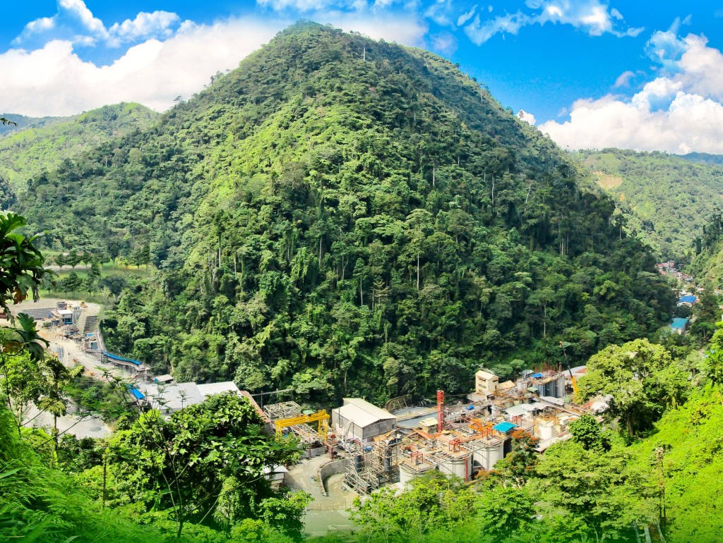
M 108 346 L 296 399 L 467 391 L 650 334 L 672 293 L 612 199 L 449 61 L 295 25 L 27 183 L 46 243 L 158 267 Z

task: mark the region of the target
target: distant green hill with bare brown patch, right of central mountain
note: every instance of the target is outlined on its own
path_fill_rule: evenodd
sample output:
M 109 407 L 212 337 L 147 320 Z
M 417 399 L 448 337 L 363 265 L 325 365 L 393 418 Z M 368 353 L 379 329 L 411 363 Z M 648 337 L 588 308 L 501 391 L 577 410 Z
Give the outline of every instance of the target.
M 615 198 L 630 232 L 661 258 L 689 259 L 706 217 L 723 203 L 717 155 L 603 149 L 575 156 Z

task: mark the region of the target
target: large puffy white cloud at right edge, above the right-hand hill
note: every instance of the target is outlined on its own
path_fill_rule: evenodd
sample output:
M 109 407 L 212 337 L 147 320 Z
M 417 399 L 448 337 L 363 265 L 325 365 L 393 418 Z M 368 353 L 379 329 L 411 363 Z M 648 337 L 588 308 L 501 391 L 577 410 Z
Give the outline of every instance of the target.
M 721 52 L 703 36 L 680 39 L 670 31 L 656 32 L 648 45 L 665 74 L 630 98 L 578 100 L 569 121 L 547 121 L 539 129 L 573 149 L 723 153 Z

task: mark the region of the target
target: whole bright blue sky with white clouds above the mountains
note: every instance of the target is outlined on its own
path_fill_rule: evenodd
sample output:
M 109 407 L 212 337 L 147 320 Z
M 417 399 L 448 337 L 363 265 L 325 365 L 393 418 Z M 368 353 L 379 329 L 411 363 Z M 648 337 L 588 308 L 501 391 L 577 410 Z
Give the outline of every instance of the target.
M 300 18 L 450 58 L 563 147 L 723 152 L 723 9 L 712 1 L 16 2 L 3 14 L 0 110 L 163 110 Z

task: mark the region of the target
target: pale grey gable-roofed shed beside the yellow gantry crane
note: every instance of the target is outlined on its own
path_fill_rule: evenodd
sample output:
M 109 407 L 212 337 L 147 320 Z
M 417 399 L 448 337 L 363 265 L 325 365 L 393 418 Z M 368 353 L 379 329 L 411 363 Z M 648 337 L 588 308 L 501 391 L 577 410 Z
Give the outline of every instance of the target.
M 395 430 L 397 418 L 361 398 L 344 398 L 341 407 L 331 410 L 331 422 L 339 438 L 369 443 L 377 435 Z

